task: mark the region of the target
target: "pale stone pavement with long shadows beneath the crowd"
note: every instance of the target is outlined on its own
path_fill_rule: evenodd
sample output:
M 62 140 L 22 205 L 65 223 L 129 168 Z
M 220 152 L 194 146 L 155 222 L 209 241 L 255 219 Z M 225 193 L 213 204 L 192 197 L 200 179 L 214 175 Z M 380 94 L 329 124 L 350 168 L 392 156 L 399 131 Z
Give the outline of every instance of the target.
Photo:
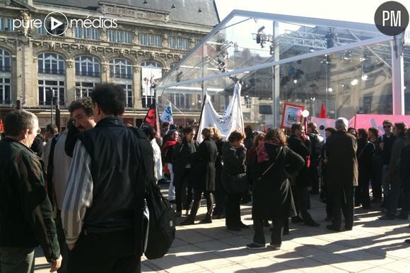
M 353 231 L 332 233 L 325 228 L 329 222 L 324 221 L 324 204 L 317 199 L 311 195 L 310 214 L 320 227 L 291 223 L 281 250 L 247 250 L 252 226 L 228 231 L 224 219 L 213 220 L 177 226 L 177 238 L 168 255 L 159 260 L 143 257 L 142 272 L 410 272 L 410 244 L 404 243 L 410 238 L 408 221 L 377 220 L 382 213 L 375 205 L 370 211 L 356 209 Z M 252 225 L 251 209 L 250 204 L 241 206 L 242 221 L 248 225 Z M 197 221 L 205 211 L 203 204 Z M 265 228 L 265 236 L 269 242 L 269 228 Z M 39 252 L 35 272 L 49 272 L 46 268 Z

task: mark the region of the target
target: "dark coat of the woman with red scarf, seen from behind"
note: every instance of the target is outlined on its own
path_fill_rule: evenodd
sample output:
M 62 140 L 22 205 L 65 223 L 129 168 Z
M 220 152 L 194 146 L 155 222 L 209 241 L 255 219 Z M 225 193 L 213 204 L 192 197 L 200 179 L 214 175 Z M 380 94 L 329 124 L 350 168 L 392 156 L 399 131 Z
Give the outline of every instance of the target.
M 295 216 L 295 204 L 293 203 L 291 184 L 288 181 L 285 168 L 288 173 L 295 173 L 303 167 L 305 161 L 297 153 L 287 146 L 264 144 L 269 155 L 269 161 L 257 162 L 257 156 L 252 161 L 252 218 L 274 219 Z M 279 151 L 281 151 L 279 153 Z M 279 157 L 274 165 L 262 176 L 265 170 Z

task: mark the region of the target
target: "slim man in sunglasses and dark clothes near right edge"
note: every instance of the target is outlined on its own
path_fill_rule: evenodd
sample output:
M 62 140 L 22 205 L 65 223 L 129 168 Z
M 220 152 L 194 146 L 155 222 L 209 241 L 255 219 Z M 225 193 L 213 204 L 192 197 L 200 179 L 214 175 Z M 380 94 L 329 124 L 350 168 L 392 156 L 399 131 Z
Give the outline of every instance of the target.
M 380 136 L 380 149 L 382 149 L 382 159 L 383 159 L 383 168 L 382 168 L 382 188 L 383 188 L 383 204 L 382 207 L 385 207 L 387 204 L 388 196 L 388 187 L 389 184 L 386 181 L 387 173 L 389 172 L 390 165 L 390 156 L 392 155 L 392 146 L 396 140 L 396 136 L 393 134 L 393 122 L 391 120 L 383 120 L 383 129 L 385 134 Z

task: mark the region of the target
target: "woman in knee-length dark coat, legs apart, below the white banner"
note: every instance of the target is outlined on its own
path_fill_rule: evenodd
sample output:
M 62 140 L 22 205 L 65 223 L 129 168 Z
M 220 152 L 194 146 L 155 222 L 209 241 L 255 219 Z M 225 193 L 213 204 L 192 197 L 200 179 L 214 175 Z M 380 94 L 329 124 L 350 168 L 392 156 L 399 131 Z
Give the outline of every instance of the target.
M 203 141 L 199 144 L 195 162 L 194 172 L 196 179 L 193 182 L 194 203 L 192 204 L 191 214 L 181 223 L 181 225 L 192 225 L 201 202 L 201 195 L 204 193 L 206 199 L 206 216 L 201 223 L 212 223 L 212 192 L 215 190 L 215 161 L 218 149 L 215 142 L 211 139 L 211 129 L 202 129 Z

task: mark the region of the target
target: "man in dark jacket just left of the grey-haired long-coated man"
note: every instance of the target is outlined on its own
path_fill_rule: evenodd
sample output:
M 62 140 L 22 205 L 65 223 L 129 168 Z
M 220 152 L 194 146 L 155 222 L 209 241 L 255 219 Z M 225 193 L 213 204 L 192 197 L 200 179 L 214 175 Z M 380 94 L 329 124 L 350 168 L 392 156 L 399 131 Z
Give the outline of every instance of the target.
M 292 222 L 297 223 L 303 221 L 307 226 L 320 226 L 319 223 L 316 223 L 312 219 L 309 211 L 307 211 L 307 205 L 309 204 L 307 187 L 310 186 L 307 158 L 310 156 L 310 150 L 308 148 L 310 147 L 310 141 L 307 139 L 307 136 L 303 136 L 304 129 L 303 124 L 296 122 L 291 127 L 292 135 L 288 139 L 289 148 L 305 159 L 305 165 L 299 170 L 298 176 L 295 179 L 295 184 L 292 186 L 295 207 L 299 215 L 292 217 Z

